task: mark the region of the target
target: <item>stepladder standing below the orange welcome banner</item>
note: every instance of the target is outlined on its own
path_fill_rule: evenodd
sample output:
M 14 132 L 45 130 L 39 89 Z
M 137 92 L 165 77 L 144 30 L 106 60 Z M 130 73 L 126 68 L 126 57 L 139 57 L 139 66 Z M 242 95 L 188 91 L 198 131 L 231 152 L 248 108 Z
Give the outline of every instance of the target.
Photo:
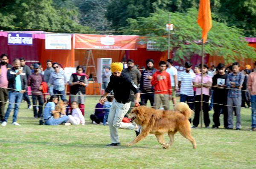
M 90 70 L 90 74 L 92 74 L 92 78 L 93 78 L 93 93 L 94 95 L 97 95 L 96 93 L 96 89 L 99 89 L 99 93 L 98 95 L 101 95 L 101 86 L 96 86 L 96 83 L 98 82 L 97 80 L 97 71 L 96 71 L 96 66 L 95 66 L 95 62 L 94 62 L 94 58 L 93 58 L 93 52 L 92 50 L 87 50 L 85 55 L 84 55 L 84 61 L 83 61 L 83 66 L 85 66 L 85 73 L 87 71 L 87 68 Z M 93 70 L 92 70 L 93 69 Z M 90 76 L 89 74 L 89 76 Z

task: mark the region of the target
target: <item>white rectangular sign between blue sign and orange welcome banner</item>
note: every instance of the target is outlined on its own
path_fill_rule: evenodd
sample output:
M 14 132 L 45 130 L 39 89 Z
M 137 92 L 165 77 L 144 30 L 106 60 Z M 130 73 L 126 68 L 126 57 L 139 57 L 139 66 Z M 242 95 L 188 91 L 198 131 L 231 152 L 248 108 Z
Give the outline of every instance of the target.
M 45 49 L 71 49 L 71 34 L 45 34 Z

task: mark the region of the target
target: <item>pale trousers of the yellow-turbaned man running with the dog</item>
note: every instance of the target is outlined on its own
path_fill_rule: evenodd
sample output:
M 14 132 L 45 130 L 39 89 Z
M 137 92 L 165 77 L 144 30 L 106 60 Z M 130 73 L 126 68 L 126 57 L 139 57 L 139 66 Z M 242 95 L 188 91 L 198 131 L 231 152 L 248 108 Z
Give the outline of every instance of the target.
M 108 125 L 110 129 L 111 143 L 120 143 L 117 128 L 119 129 L 136 129 L 132 123 L 123 123 L 122 119 L 128 112 L 131 102 L 129 103 L 118 103 L 116 99 L 113 100 L 111 109 L 108 115 Z

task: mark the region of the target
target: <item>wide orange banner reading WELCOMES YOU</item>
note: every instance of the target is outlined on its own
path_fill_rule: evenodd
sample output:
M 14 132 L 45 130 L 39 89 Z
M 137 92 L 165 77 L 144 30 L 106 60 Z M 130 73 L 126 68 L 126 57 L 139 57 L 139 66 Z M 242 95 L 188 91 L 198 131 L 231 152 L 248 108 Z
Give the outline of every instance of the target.
M 138 37 L 75 34 L 75 49 L 136 50 Z

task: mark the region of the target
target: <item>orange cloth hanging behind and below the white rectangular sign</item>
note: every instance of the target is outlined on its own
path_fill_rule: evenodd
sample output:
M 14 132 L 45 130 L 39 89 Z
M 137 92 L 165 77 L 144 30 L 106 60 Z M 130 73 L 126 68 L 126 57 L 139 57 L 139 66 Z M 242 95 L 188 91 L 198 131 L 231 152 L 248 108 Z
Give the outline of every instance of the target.
M 73 37 L 71 40 L 73 41 Z M 75 50 L 73 43 L 71 43 L 71 50 L 45 49 L 45 39 L 42 39 L 38 47 L 41 49 L 38 50 L 38 55 L 40 56 L 39 60 L 44 69 L 46 69 L 46 60 L 48 59 L 52 60 L 52 62 L 60 63 L 64 68 L 75 66 Z

